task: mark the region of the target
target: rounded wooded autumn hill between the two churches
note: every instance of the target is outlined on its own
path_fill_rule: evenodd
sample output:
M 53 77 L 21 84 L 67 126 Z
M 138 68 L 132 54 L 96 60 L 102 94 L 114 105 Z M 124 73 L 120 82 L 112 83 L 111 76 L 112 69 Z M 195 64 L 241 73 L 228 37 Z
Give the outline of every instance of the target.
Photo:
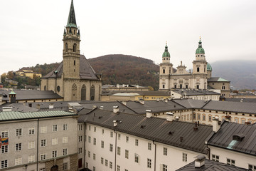
M 106 55 L 88 59 L 96 73 L 102 73 L 104 84 L 138 84 L 159 89 L 159 66 L 136 56 Z

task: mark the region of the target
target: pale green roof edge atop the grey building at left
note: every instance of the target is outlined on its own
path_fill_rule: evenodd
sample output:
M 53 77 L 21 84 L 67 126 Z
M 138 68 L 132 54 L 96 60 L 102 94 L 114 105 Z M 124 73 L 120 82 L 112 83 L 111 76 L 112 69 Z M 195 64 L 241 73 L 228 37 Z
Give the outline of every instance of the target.
M 69 113 L 60 110 L 54 111 L 41 111 L 41 112 L 33 112 L 33 113 L 21 113 L 17 111 L 12 112 L 1 112 L 0 113 L 0 121 L 6 120 L 25 120 L 25 119 L 33 119 L 33 118 L 50 118 L 50 117 L 60 117 L 60 116 L 68 116 L 68 115 L 78 115 L 76 113 Z

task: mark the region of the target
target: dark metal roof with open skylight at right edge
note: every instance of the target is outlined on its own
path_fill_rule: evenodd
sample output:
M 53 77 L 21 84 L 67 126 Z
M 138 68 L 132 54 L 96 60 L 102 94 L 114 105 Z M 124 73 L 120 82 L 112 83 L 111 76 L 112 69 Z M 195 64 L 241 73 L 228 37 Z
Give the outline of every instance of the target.
M 237 141 L 232 147 L 228 147 L 233 140 L 233 135 L 245 135 L 241 141 Z M 244 125 L 224 121 L 213 137 L 208 140 L 208 145 L 243 152 L 256 156 L 256 124 Z

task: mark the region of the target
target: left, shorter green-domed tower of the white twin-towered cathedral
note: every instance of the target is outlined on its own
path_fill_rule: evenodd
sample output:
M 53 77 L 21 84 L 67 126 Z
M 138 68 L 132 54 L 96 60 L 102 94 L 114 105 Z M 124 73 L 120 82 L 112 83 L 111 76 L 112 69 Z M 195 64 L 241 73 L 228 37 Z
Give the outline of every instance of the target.
M 162 55 L 162 63 L 160 63 L 160 72 L 159 72 L 159 90 L 169 90 L 170 86 L 170 75 L 173 73 L 172 63 L 170 63 L 170 53 L 168 51 L 168 46 L 166 42 L 166 46 L 164 49 L 164 53 Z

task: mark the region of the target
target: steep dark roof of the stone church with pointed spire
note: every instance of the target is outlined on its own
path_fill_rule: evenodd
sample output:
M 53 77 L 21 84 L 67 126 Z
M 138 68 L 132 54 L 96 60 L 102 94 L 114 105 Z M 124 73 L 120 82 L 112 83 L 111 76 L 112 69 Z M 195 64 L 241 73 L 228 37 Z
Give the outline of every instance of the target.
M 42 78 L 60 78 L 62 73 L 63 62 L 61 62 L 57 68 L 55 68 L 53 71 L 50 71 L 50 73 L 46 74 L 46 76 L 43 76 Z M 80 79 L 100 81 L 100 78 L 96 76 L 92 66 L 90 66 L 90 63 L 83 55 L 80 55 Z

